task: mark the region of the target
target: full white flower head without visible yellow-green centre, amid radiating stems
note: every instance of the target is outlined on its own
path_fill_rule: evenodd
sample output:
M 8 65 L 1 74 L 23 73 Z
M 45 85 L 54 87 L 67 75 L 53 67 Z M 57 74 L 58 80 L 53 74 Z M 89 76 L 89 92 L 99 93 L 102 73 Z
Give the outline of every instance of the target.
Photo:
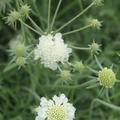
M 40 59 L 41 64 L 52 70 L 57 69 L 57 63 L 67 62 L 69 54 L 72 52 L 62 39 L 62 34 L 57 33 L 55 36 L 48 34 L 39 38 L 39 44 L 34 51 L 35 60 Z

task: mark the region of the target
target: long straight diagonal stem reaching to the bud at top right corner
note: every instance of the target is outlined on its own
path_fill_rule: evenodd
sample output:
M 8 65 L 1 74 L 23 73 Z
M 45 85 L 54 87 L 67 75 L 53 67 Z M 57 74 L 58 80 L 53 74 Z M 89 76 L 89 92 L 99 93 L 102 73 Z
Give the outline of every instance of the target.
M 66 26 L 68 26 L 70 23 L 72 23 L 74 20 L 76 20 L 78 17 L 80 17 L 82 14 L 84 14 L 89 8 L 91 8 L 94 5 L 94 2 L 92 2 L 87 8 L 85 8 L 81 13 L 79 13 L 78 15 L 76 15 L 74 18 L 72 18 L 71 20 L 69 20 L 67 23 L 65 23 L 63 26 L 61 26 L 58 30 L 56 30 L 56 32 L 59 32 L 60 30 L 62 30 L 63 28 L 65 28 Z

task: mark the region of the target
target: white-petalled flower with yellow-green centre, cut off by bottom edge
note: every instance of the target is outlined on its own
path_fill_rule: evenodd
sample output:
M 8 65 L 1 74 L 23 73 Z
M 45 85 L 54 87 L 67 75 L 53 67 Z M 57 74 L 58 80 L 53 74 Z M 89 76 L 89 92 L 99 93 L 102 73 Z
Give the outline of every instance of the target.
M 40 106 L 36 108 L 37 117 L 35 120 L 73 120 L 75 108 L 68 103 L 64 94 L 54 96 L 52 100 L 42 97 Z

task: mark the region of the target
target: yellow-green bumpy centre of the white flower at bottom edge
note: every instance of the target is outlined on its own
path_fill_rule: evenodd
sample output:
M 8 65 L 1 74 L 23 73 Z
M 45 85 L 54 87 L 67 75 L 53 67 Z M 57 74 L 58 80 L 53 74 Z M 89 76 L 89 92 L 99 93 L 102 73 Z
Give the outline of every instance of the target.
M 66 110 L 63 106 L 54 105 L 48 111 L 48 120 L 65 120 Z

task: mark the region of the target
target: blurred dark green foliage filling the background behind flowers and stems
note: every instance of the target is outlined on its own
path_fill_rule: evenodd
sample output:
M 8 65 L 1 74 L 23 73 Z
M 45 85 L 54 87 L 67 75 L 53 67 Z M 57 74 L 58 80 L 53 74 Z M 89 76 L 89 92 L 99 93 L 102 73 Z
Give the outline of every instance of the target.
M 48 0 L 24 0 L 33 10 L 31 16 L 38 25 L 44 26 L 47 19 Z M 58 0 L 52 0 L 52 15 L 57 6 Z M 55 28 L 68 21 L 78 12 L 83 10 L 90 0 L 64 0 L 62 2 Z M 100 88 L 87 90 L 85 88 L 71 89 L 69 86 L 61 87 L 53 84 L 59 78 L 58 71 L 51 71 L 39 63 L 29 61 L 30 64 L 18 70 L 16 67 L 7 68 L 10 61 L 9 41 L 20 32 L 20 29 L 14 30 L 2 18 L 7 13 L 16 8 L 13 0 L 0 0 L 0 120 L 34 120 L 34 108 L 39 105 L 39 96 L 52 97 L 54 94 L 65 93 L 77 109 L 76 120 L 88 120 L 90 105 L 93 99 L 98 97 Z M 71 34 L 64 39 L 68 43 L 74 43 L 79 46 L 87 46 L 93 40 L 102 44 L 102 53 L 99 60 L 104 66 L 111 66 L 119 79 L 119 51 L 120 51 L 120 1 L 105 0 L 104 6 L 93 7 L 86 14 L 81 16 L 75 22 L 66 27 L 62 32 L 70 31 L 78 26 L 85 24 L 85 19 L 93 16 L 103 21 L 100 31 L 87 29 L 82 32 Z M 42 22 L 40 22 L 40 19 Z M 28 24 L 29 21 L 27 21 Z M 18 26 L 19 28 L 19 26 Z M 38 42 L 38 35 L 26 30 L 30 39 L 29 44 Z M 74 58 L 73 58 L 74 56 Z M 89 58 L 88 52 L 74 51 L 71 59 L 82 60 L 86 63 Z M 89 66 L 98 70 L 95 61 L 88 63 Z M 83 73 L 72 75 L 73 85 L 81 84 L 89 80 L 89 75 L 93 75 L 88 70 Z M 110 90 L 110 99 L 113 104 L 120 106 L 120 85 L 116 84 Z M 105 97 L 101 96 L 104 100 Z M 119 120 L 120 111 L 114 111 L 99 103 L 94 104 L 92 120 Z

